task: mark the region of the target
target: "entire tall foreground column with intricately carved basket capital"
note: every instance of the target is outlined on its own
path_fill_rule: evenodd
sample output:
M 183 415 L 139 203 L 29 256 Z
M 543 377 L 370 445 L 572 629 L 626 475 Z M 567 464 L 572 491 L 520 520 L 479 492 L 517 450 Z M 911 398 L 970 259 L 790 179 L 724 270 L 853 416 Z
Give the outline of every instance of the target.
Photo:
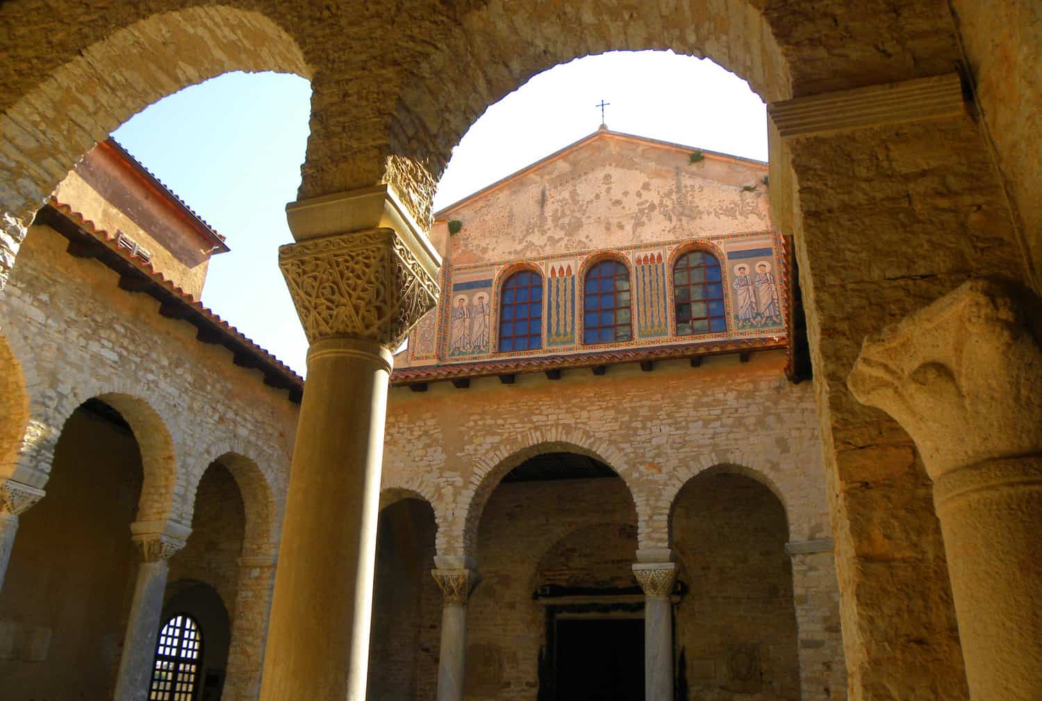
M 260 698 L 365 701 L 391 351 L 435 305 L 440 259 L 386 186 L 287 216 L 311 349 Z

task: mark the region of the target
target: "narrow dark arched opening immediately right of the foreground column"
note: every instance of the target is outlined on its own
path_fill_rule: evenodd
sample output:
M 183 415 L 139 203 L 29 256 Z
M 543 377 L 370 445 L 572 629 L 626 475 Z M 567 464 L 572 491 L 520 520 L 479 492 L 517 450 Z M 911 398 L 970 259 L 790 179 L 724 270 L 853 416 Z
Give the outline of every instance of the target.
M 366 692 L 373 701 L 437 696 L 442 593 L 430 576 L 436 530 L 433 509 L 422 499 L 407 496 L 380 509 Z

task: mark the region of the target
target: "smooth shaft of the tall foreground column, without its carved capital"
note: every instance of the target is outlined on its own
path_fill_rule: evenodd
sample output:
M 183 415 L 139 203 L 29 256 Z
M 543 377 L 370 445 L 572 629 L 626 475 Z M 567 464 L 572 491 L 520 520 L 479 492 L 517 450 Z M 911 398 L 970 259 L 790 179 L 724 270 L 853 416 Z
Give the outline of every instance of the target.
M 312 344 L 260 698 L 365 701 L 391 353 Z

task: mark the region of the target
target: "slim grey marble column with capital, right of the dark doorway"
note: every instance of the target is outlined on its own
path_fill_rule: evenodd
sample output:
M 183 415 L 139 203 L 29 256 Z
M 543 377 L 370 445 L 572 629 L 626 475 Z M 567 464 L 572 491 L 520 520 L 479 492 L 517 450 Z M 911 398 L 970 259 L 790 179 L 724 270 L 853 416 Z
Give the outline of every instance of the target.
M 638 559 L 642 559 L 638 551 Z M 637 562 L 634 576 L 644 591 L 644 700 L 673 701 L 674 562 Z

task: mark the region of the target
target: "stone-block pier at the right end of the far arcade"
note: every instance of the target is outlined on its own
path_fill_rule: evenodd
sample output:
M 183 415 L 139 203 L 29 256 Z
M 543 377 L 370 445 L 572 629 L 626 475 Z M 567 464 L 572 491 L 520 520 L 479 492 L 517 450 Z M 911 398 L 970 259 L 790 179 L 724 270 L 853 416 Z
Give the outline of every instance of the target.
M 846 699 L 846 666 L 840 626 L 840 590 L 833 540 L 787 543 L 799 633 L 801 701 Z

